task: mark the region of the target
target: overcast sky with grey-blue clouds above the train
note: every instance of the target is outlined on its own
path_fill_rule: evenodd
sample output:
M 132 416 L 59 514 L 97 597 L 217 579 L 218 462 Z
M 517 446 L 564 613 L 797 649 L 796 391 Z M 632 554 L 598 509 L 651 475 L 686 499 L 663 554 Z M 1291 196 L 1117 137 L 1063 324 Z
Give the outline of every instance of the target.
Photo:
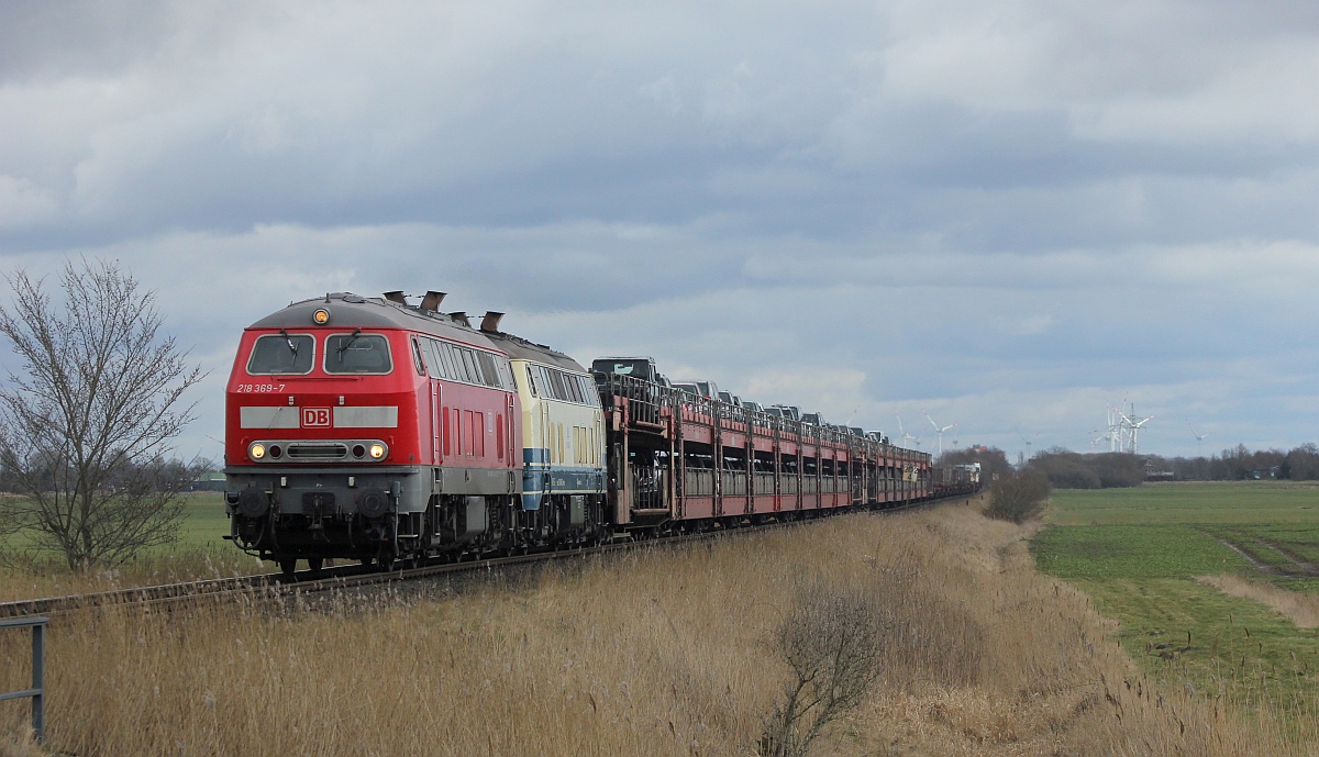
M 1315 442 L 1316 169 L 1314 0 L 0 3 L 0 269 L 160 291 L 182 455 L 390 289 L 925 450 Z

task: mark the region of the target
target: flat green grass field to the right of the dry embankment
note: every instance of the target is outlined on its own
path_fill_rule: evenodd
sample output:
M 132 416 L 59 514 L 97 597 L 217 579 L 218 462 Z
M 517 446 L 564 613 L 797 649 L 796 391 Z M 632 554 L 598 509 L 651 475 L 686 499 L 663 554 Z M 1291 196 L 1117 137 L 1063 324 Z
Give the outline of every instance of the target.
M 1064 489 L 1047 522 L 1031 542 L 1039 568 L 1117 620 L 1148 674 L 1246 703 L 1319 704 L 1319 630 L 1195 580 L 1229 574 L 1319 592 L 1319 487 Z

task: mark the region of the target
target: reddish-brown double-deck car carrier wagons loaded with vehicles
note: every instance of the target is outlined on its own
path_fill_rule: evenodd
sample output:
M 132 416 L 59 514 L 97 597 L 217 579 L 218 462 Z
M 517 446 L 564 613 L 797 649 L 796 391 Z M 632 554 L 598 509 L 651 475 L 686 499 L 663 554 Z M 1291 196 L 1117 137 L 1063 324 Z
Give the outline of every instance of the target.
M 633 376 L 595 378 L 611 456 L 607 506 L 620 529 L 892 508 L 935 493 L 926 452 Z

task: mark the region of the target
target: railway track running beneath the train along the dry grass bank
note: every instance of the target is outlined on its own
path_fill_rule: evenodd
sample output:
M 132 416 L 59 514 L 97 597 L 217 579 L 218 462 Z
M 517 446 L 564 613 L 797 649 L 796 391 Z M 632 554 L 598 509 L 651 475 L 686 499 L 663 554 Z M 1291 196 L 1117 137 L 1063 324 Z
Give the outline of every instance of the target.
M 959 499 L 947 497 L 947 499 Z M 944 500 L 929 500 L 902 508 L 859 510 L 892 513 L 898 510 L 913 510 L 933 505 Z M 849 510 L 857 512 L 857 510 Z M 222 579 L 207 579 L 198 582 L 185 582 L 153 587 L 133 587 L 116 591 L 103 591 L 83 595 L 69 595 L 44 599 L 28 599 L 0 603 L 0 619 L 25 616 L 59 616 L 79 609 L 102 605 L 140 605 L 140 607 L 171 607 L 199 599 L 220 599 L 226 595 L 239 596 L 243 592 L 260 592 L 266 599 L 293 596 L 295 593 L 317 593 L 335 590 L 360 588 L 369 586 L 383 586 L 401 583 L 425 578 L 456 576 L 462 574 L 475 574 L 480 571 L 503 570 L 518 566 L 528 566 L 557 559 L 580 559 L 609 554 L 615 551 L 641 547 L 641 546 L 679 546 L 700 541 L 718 539 L 731 535 L 765 533 L 774 529 L 803 525 L 803 521 L 777 521 L 761 525 L 743 525 L 732 529 L 714 529 L 687 534 L 677 534 L 653 539 L 629 539 L 609 542 L 592 547 L 547 550 L 520 555 L 503 555 L 495 558 L 468 559 L 460 562 L 431 562 L 429 564 L 408 567 L 392 571 L 379 571 L 361 566 L 335 566 L 314 575 L 311 571 L 298 571 L 293 579 L 282 574 L 262 574 L 253 576 L 235 576 Z

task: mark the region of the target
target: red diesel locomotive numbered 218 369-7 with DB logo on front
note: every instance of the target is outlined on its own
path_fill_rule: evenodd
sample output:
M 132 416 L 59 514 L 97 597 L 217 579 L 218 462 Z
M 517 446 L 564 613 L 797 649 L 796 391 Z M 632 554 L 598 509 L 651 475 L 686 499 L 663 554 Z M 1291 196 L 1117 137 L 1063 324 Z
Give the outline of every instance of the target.
M 243 334 L 226 408 L 230 538 L 285 572 L 499 541 L 521 495 L 508 356 L 463 319 L 327 294 Z

